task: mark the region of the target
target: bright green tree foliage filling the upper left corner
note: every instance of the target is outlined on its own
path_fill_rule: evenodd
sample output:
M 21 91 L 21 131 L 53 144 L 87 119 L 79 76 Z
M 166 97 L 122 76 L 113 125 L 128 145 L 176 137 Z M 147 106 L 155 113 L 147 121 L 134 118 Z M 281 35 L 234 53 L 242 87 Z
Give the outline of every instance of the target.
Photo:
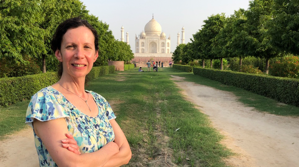
M 7 64 L 28 64 L 25 56 L 38 58 L 46 53 L 45 31 L 39 27 L 44 21 L 39 3 L 39 0 L 1 0 L 0 59 L 5 58 Z

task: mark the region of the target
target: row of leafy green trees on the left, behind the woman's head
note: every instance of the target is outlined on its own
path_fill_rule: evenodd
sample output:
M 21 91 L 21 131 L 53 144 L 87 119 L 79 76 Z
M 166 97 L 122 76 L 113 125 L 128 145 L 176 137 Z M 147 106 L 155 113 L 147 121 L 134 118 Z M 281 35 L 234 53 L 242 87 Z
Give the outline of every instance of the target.
M 114 38 L 109 25 L 89 14 L 80 0 L 0 0 L 0 60 L 2 67 L 26 66 L 36 61 L 42 69 L 56 70 L 58 61 L 50 42 L 64 20 L 82 16 L 97 30 L 99 58 L 94 66 L 107 60 L 130 61 L 129 45 Z

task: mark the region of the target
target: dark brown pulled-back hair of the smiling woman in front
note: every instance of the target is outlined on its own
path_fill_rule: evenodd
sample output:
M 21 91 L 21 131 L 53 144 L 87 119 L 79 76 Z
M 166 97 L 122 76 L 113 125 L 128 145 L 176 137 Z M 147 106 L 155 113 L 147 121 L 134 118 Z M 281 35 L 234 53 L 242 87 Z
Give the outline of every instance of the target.
M 79 16 L 79 17 L 69 18 L 63 21 L 61 24 L 59 24 L 51 41 L 51 49 L 53 50 L 53 52 L 55 53 L 57 49 L 60 50 L 62 37 L 69 29 L 74 29 L 80 26 L 87 27 L 89 30 L 91 30 L 91 32 L 94 35 L 95 51 L 99 50 L 99 37 L 97 35 L 97 30 L 95 30 L 94 27 L 92 27 L 88 21 L 81 19 L 81 17 Z M 59 78 L 61 78 L 62 72 L 63 72 L 63 66 L 62 66 L 62 62 L 60 62 L 58 65 Z

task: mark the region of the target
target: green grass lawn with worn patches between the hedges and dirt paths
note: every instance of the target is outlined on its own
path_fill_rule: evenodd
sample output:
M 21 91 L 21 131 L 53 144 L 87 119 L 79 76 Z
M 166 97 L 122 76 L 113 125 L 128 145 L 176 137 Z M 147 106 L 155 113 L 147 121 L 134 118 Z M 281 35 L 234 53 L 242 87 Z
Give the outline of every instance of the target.
M 167 154 L 171 154 L 167 159 L 178 166 L 224 167 L 224 159 L 233 155 L 219 143 L 223 136 L 211 126 L 208 117 L 184 100 L 169 75 L 182 76 L 186 81 L 233 92 L 241 102 L 262 112 L 299 115 L 298 107 L 282 105 L 275 100 L 193 73 L 173 68 L 159 68 L 159 72 L 137 70 L 134 68 L 101 76 L 90 81 L 86 87 L 105 97 L 117 115 L 116 121 L 132 148 L 133 157 L 126 166 L 138 166 L 138 163 L 159 166 L 152 162 L 159 156 L 163 157 L 167 151 Z M 28 103 L 29 100 L 1 109 L 1 140 L 5 134 L 25 127 Z

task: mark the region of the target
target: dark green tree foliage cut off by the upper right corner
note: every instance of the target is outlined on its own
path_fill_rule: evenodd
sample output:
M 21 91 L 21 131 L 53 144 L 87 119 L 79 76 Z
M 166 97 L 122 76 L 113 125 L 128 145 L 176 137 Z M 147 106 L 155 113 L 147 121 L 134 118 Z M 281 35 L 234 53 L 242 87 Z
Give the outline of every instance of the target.
M 268 23 L 271 44 L 281 52 L 299 55 L 299 1 L 274 0 L 274 18 Z

